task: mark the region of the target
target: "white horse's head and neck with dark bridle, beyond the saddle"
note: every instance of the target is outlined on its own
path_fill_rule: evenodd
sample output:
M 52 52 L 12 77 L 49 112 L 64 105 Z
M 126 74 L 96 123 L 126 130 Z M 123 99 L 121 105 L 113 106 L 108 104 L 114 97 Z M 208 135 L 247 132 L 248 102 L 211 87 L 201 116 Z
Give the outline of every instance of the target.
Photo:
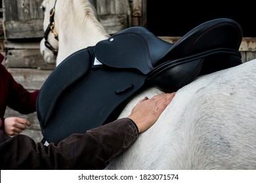
M 40 51 L 47 63 L 58 65 L 75 51 L 109 36 L 98 21 L 96 0 L 43 0 L 41 7 L 45 35 Z

